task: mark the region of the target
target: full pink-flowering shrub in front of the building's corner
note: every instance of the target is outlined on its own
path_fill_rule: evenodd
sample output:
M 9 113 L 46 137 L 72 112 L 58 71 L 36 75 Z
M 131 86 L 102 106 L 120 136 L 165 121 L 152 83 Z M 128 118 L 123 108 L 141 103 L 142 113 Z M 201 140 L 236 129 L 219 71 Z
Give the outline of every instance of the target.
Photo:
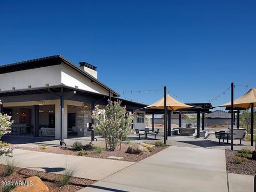
M 108 101 L 106 110 L 99 109 L 96 106 L 92 111 L 92 118 L 95 124 L 93 129 L 105 138 L 106 149 L 114 151 L 120 141 L 120 150 L 122 138 L 127 137 L 132 132 L 131 125 L 133 116 L 127 113 L 126 107 L 121 106 L 121 101 Z

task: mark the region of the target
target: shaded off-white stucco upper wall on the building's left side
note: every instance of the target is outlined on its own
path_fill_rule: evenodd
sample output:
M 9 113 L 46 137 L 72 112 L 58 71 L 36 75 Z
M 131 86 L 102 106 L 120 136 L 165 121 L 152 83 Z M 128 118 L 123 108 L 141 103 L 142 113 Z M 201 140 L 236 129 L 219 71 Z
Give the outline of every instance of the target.
M 27 89 L 31 87 L 43 87 L 45 84 L 59 85 L 61 83 L 61 66 L 49 66 L 36 69 L 15 71 L 0 75 L 1 91 Z

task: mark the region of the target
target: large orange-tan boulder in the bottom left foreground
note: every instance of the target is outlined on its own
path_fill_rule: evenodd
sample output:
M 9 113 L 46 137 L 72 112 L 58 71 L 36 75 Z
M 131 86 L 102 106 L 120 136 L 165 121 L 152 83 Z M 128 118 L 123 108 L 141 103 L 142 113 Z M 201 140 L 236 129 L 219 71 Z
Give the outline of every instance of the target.
M 48 192 L 49 188 L 44 184 L 44 182 L 38 177 L 29 177 L 26 180 L 27 185 L 17 186 L 11 192 Z

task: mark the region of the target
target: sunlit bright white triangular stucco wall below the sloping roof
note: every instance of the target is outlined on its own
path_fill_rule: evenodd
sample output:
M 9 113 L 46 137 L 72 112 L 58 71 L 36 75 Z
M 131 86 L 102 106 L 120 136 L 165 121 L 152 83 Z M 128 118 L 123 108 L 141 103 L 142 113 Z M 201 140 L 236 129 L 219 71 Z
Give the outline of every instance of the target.
M 91 82 L 89 78 L 86 78 L 65 64 L 61 65 L 61 83 L 71 87 L 78 86 L 78 89 L 108 95 L 108 90 Z

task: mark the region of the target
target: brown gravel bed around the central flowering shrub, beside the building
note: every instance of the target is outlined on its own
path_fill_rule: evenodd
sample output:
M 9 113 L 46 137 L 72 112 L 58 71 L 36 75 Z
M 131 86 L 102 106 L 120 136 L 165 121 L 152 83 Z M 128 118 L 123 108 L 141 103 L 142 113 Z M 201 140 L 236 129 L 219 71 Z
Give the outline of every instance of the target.
M 135 154 L 127 154 L 125 151 L 127 148 L 131 145 L 135 145 L 134 143 L 126 144 L 122 143 L 121 151 L 119 151 L 119 146 L 116 148 L 115 151 L 106 151 L 103 150 L 101 154 L 94 153 L 94 151 L 90 151 L 89 154 L 84 155 L 85 157 L 94 157 L 94 158 L 107 158 L 108 156 L 118 156 L 123 157 L 121 161 L 128 161 L 128 162 L 139 162 L 142 159 L 145 159 L 151 155 L 154 155 L 158 153 L 159 151 L 169 147 L 155 147 L 154 151 L 151 151 L 148 155 L 135 155 Z M 103 143 L 97 143 L 97 146 L 104 147 Z M 34 146 L 34 147 L 17 147 L 16 145 L 10 145 L 11 148 L 17 148 L 17 149 L 25 149 L 25 150 L 33 150 L 33 151 L 42 151 L 47 153 L 56 153 L 56 154 L 65 154 L 65 155 L 77 155 L 77 151 L 73 150 L 71 147 L 52 147 L 47 146 L 47 149 L 41 149 L 41 146 Z

